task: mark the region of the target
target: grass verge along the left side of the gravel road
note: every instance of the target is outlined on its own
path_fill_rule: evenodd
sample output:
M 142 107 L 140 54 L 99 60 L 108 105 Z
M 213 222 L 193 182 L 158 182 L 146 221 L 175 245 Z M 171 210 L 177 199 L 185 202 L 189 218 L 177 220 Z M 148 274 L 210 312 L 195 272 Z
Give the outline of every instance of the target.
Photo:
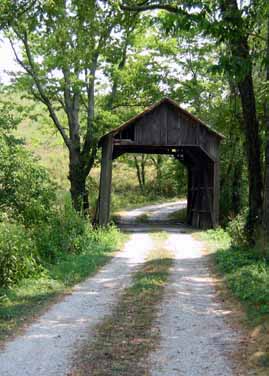
M 98 236 L 80 254 L 66 254 L 57 264 L 47 265 L 39 277 L 0 289 L 0 341 L 16 334 L 71 287 L 97 272 L 119 249 L 127 235 L 118 231 Z

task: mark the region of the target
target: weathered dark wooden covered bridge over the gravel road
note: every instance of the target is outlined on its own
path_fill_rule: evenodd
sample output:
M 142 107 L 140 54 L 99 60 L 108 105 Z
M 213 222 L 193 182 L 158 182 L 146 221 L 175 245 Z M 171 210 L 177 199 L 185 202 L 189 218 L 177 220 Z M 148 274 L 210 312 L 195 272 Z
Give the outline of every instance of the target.
M 219 220 L 219 146 L 223 136 L 164 98 L 104 135 L 97 223 L 109 222 L 112 161 L 124 153 L 173 155 L 188 171 L 187 223 L 210 228 Z

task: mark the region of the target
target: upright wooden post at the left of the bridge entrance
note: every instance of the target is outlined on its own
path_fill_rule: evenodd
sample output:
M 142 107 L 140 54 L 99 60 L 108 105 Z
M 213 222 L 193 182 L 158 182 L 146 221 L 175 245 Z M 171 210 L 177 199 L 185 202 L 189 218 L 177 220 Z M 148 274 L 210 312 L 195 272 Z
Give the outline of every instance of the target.
M 110 218 L 110 196 L 112 182 L 112 135 L 108 135 L 102 144 L 102 161 L 99 186 L 99 199 L 97 210 L 97 224 L 106 226 Z

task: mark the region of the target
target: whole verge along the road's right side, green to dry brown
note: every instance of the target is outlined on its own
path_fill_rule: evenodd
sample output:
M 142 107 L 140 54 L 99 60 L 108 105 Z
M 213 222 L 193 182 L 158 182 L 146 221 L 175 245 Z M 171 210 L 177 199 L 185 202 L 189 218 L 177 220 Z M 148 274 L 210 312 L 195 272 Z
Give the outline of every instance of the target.
M 196 235 L 197 236 L 197 235 Z M 198 234 L 208 244 L 222 300 L 244 325 L 238 358 L 258 376 L 269 374 L 269 260 L 257 249 L 233 245 L 223 229 Z M 231 295 L 232 293 L 232 295 Z

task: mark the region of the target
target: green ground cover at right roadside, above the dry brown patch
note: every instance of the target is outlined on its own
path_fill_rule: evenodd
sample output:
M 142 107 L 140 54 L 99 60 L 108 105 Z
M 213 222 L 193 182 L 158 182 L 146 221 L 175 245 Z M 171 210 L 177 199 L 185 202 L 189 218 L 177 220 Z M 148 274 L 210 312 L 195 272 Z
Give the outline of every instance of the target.
M 203 239 L 214 245 L 215 264 L 228 288 L 246 305 L 251 320 L 259 322 L 269 313 L 268 259 L 257 249 L 231 245 L 230 235 L 222 229 L 207 231 Z

